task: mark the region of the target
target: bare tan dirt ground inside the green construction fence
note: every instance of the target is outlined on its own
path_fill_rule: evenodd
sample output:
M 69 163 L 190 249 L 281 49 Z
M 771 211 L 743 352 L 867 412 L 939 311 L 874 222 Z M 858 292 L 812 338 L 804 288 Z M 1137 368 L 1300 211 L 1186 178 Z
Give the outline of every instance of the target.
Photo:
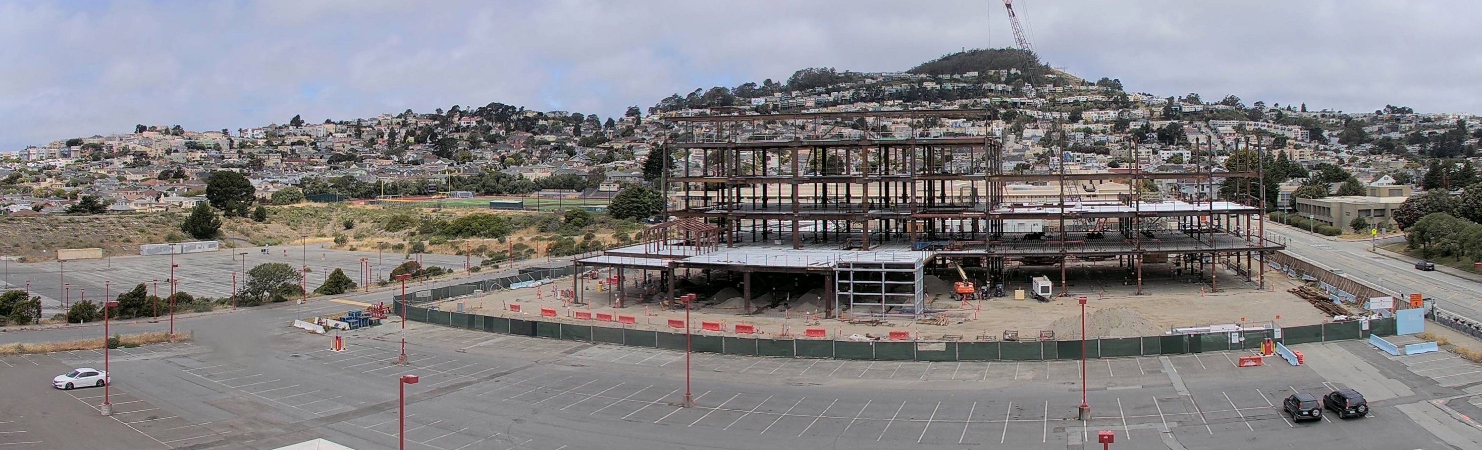
M 630 272 L 630 280 L 640 277 Z M 606 277 L 608 272 L 602 272 Z M 1189 283 L 1172 277 L 1162 280 L 1147 280 L 1146 295 L 1135 295 L 1134 286 L 1106 283 L 1071 283 L 1070 290 L 1089 298 L 1086 305 L 1086 335 L 1092 338 L 1131 338 L 1160 335 L 1172 327 L 1192 327 L 1206 324 L 1245 323 L 1249 326 L 1277 321 L 1280 326 L 1315 324 L 1329 320 L 1322 311 L 1313 308 L 1306 300 L 1291 295 L 1286 289 L 1297 286 L 1285 274 L 1276 271 L 1266 272 L 1267 289 L 1257 289 L 1255 283 L 1236 280 L 1233 272 L 1220 272 L 1220 292 L 1208 290 L 1208 283 Z M 499 290 L 483 293 L 477 298 L 451 299 L 434 303 L 443 311 L 456 311 L 462 302 L 464 312 L 483 315 L 502 315 L 519 318 L 539 318 L 539 308 L 556 308 L 557 320 L 566 323 L 600 324 L 594 320 L 576 320 L 575 312 L 612 312 L 614 315 L 633 315 L 637 323 L 631 327 L 668 330 L 670 318 L 683 318 L 683 309 L 665 309 L 659 302 L 636 303 L 630 302 L 622 308 L 615 308 L 609 300 L 611 290 L 597 290 L 597 280 L 581 280 L 584 303 L 571 303 L 557 298 L 557 292 L 572 290 L 572 278 L 553 280 L 551 284 L 539 287 L 525 287 L 514 290 Z M 940 281 L 940 280 L 937 280 Z M 735 324 L 751 324 L 759 333 L 766 336 L 802 336 L 805 329 L 825 329 L 828 338 L 848 339 L 851 335 L 886 336 L 891 330 L 910 332 L 916 339 L 943 339 L 944 336 L 960 336 L 963 340 L 974 340 L 980 336 L 1002 339 L 1005 332 L 1017 332 L 1020 339 L 1037 339 L 1042 332 L 1052 332 L 1060 339 L 1074 339 L 1080 333 L 1080 308 L 1076 299 L 1057 298 L 1051 302 L 1012 300 L 996 298 L 962 303 L 953 300 L 950 293 L 940 292 L 940 286 L 950 283 L 928 281 L 928 311 L 943 309 L 948 317 L 947 324 L 913 323 L 911 317 L 886 317 L 883 324 L 849 324 L 845 320 L 817 318 L 814 311 L 823 311 L 814 289 L 802 296 L 796 293 L 785 305 L 788 311 L 780 311 L 782 305 L 765 308 L 750 315 L 742 314 L 742 302 L 738 299 L 740 286 L 725 287 L 710 298 L 698 298 L 691 320 L 695 330 L 713 335 L 734 335 Z M 937 292 L 932 286 L 937 284 Z M 1006 286 L 1009 295 L 1017 286 Z M 637 289 L 637 287 L 630 287 Z M 753 293 L 753 308 L 774 303 L 772 293 Z M 811 302 L 809 302 L 811 300 Z M 520 303 L 520 312 L 508 311 L 510 303 Z M 777 300 L 781 303 L 781 300 Z M 846 314 L 848 318 L 848 314 Z M 701 321 L 717 321 L 723 324 L 723 333 L 700 330 Z M 618 326 L 617 323 L 608 326 Z M 947 338 L 951 339 L 951 338 Z

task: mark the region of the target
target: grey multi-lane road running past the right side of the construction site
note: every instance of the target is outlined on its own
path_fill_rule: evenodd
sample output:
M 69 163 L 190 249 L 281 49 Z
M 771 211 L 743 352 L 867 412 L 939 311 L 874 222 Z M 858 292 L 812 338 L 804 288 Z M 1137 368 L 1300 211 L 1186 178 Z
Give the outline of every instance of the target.
M 1329 240 L 1285 225 L 1267 224 L 1266 232 L 1286 238 L 1286 250 L 1326 268 L 1343 269 L 1352 278 L 1368 281 L 1402 298 L 1423 293 L 1436 305 L 1473 320 L 1482 320 L 1482 283 L 1475 277 L 1449 274 L 1451 268 L 1433 272 L 1417 271 L 1415 261 L 1375 253 L 1369 241 Z M 1390 238 L 1395 241 L 1395 238 Z M 1460 272 L 1460 271 L 1457 271 Z

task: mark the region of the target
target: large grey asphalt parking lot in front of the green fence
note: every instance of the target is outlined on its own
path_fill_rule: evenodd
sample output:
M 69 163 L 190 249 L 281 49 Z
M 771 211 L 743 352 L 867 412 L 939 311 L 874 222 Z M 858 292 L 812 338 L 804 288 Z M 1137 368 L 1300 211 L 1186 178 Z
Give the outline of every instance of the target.
M 1279 410 L 1282 398 L 1350 385 L 1341 373 L 1325 376 L 1320 364 L 1269 358 L 1267 366 L 1235 367 L 1248 352 L 1089 360 L 1092 416 L 1082 422 L 1079 361 L 694 354 L 695 407 L 685 409 L 682 352 L 409 323 L 409 366 L 397 366 L 402 329 L 394 318 L 341 333 L 344 351 L 330 351 L 329 336 L 295 329 L 242 330 L 261 336 L 250 338 L 259 339 L 247 343 L 253 351 L 239 355 L 213 348 L 221 338 L 113 354 L 113 417 L 98 416 L 96 389 L 44 385 L 59 370 L 98 366 L 96 352 L 4 357 L 0 383 L 16 379 L 9 375 L 19 364 L 33 364 L 40 372 L 27 377 L 43 383 L 24 394 L 27 401 L 74 409 L 58 416 L 76 423 L 127 431 L 141 440 L 138 449 L 271 449 L 314 437 L 394 449 L 397 379 L 406 373 L 421 376 L 405 386 L 408 449 L 1066 449 L 1094 441 L 1100 429 L 1116 431 L 1117 446 L 1131 449 L 1165 449 L 1169 441 L 1187 449 L 1328 449 L 1335 441 L 1346 449 L 1445 449 L 1408 410 L 1396 409 L 1424 406 L 1415 395 L 1377 395 L 1383 400 L 1371 400 L 1374 417 L 1294 423 Z M 227 340 L 240 339 L 249 338 Z M 1352 358 L 1341 354 L 1359 349 L 1315 346 L 1309 360 Z M 1389 364 L 1386 373 L 1406 367 L 1365 360 Z M 41 364 L 50 367 L 37 369 Z M 13 444 L 3 447 L 55 449 L 47 443 L 77 440 L 56 434 L 56 426 L 47 431 L 44 420 L 4 420 L 0 432 L 22 432 L 0 434 L 0 443 Z

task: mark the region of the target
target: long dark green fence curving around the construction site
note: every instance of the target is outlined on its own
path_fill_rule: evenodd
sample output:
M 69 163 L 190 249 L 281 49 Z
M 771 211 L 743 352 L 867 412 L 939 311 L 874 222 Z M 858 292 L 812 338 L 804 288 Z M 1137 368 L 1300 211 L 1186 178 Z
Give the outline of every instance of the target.
M 559 272 L 559 271 L 557 271 Z M 569 274 L 569 271 L 568 271 Z M 406 320 L 451 326 L 491 333 L 551 338 L 591 343 L 618 343 L 645 348 L 685 349 L 683 332 L 643 330 L 633 326 L 587 326 L 562 321 L 523 320 L 495 315 L 465 314 L 416 306 L 419 303 L 470 295 L 476 289 L 508 286 L 520 277 L 562 277 L 565 274 L 522 274 L 439 287 L 408 295 L 412 305 L 403 305 L 400 296 L 393 298 L 397 315 Z M 517 283 L 517 281 L 516 281 Z M 488 290 L 488 289 L 485 289 Z M 425 293 L 425 295 L 422 295 Z M 605 323 L 606 324 L 606 323 Z M 774 336 L 760 338 L 754 333 L 705 332 L 680 321 L 679 329 L 691 327 L 691 349 L 697 352 L 760 355 L 760 357 L 805 357 L 836 360 L 879 361 L 1039 361 L 1080 358 L 1082 340 L 999 340 L 999 342 L 940 342 L 940 340 L 833 340 Z M 1279 332 L 1279 333 L 1277 333 Z M 1349 320 L 1310 326 L 1282 327 L 1279 330 L 1248 330 L 1233 333 L 1194 333 L 1143 338 L 1086 339 L 1086 357 L 1138 357 L 1197 354 L 1226 349 L 1258 349 L 1261 340 L 1295 345 L 1328 340 L 1368 339 L 1368 336 L 1393 336 L 1395 318 Z

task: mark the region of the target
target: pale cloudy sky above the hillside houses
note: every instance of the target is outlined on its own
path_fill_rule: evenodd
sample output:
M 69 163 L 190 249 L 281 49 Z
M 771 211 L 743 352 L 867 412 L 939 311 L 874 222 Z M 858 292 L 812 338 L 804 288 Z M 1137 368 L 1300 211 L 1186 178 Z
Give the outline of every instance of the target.
M 1036 50 L 1128 90 L 1482 113 L 1482 1 L 1020 0 Z M 505 102 L 617 115 L 803 67 L 1012 44 L 996 0 L 0 0 L 0 151 Z

